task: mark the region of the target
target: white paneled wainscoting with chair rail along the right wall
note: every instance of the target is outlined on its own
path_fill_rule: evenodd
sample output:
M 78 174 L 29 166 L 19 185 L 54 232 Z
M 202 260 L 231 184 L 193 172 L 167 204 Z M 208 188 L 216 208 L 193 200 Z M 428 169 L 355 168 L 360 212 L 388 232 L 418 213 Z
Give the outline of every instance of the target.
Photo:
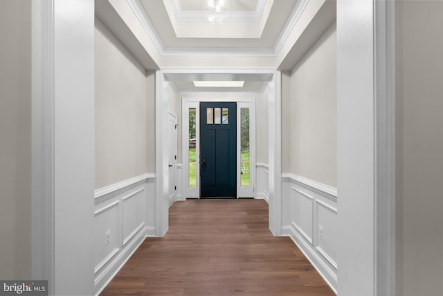
M 327 284 L 337 289 L 336 189 L 291 173 L 282 174 L 282 234 L 311 261 Z M 289 215 L 287 217 L 286 215 Z

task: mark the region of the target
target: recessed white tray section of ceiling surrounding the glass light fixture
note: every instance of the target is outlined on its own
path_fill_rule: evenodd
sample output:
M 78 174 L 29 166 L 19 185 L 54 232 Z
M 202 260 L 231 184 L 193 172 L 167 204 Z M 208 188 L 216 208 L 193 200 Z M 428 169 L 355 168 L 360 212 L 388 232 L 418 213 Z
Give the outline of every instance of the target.
M 233 18 L 210 24 L 201 16 L 205 0 L 140 1 L 163 48 L 175 51 L 229 49 L 271 51 L 297 0 L 232 0 Z

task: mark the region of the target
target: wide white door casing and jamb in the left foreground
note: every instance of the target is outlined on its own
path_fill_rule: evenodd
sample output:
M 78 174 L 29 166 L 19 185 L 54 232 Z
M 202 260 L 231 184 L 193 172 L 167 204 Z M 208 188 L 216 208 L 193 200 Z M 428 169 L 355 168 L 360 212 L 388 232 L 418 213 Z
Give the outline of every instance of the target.
M 94 3 L 33 0 L 32 24 L 31 276 L 93 295 Z

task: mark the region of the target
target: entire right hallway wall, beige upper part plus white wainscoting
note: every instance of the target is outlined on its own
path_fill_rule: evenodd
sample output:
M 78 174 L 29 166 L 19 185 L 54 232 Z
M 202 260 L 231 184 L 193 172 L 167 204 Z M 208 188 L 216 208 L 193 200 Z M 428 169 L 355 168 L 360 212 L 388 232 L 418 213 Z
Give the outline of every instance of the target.
M 282 73 L 282 234 L 337 290 L 336 26 Z

